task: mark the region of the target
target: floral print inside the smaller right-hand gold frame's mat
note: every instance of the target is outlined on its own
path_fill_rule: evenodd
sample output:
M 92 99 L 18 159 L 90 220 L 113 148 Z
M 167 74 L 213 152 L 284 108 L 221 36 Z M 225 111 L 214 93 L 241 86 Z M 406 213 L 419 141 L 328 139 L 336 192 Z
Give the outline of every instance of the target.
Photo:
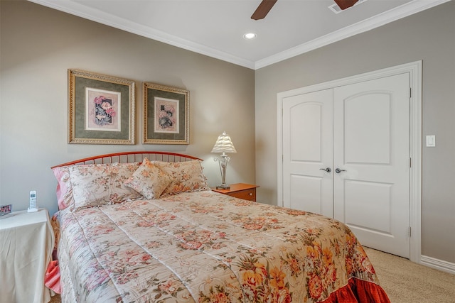
M 178 100 L 155 98 L 155 133 L 178 133 Z

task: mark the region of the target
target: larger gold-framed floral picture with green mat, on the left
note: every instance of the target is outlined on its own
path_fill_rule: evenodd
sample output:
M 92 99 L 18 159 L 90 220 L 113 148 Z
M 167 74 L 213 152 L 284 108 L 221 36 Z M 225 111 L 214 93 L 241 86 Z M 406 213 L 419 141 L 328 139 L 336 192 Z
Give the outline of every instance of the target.
M 134 81 L 68 70 L 68 143 L 134 144 Z

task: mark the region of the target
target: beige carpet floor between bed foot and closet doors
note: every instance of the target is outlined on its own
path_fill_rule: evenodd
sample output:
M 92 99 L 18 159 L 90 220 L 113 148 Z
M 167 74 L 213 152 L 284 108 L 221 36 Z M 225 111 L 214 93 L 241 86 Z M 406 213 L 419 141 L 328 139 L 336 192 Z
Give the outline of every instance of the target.
M 371 248 L 365 251 L 392 303 L 455 303 L 455 275 Z

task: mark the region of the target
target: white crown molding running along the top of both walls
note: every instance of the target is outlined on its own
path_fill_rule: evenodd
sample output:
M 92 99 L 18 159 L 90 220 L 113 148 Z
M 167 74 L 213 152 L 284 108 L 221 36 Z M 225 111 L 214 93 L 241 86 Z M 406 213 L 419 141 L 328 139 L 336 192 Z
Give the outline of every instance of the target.
M 378 28 L 392 21 L 396 21 L 400 18 L 405 18 L 414 13 L 424 11 L 425 9 L 430 9 L 439 4 L 451 0 L 414 0 L 410 1 L 407 4 L 398 6 L 395 9 L 386 11 L 377 16 L 366 19 L 365 21 L 360 21 L 346 28 L 341 28 L 338 31 L 324 35 L 321 38 L 317 38 L 298 45 L 294 48 L 289 48 L 275 55 L 271 55 L 256 62 L 245 60 L 241 57 L 230 55 L 228 53 L 222 52 L 220 50 L 215 50 L 214 48 L 209 48 L 205 45 L 200 45 L 199 43 L 194 43 L 193 41 L 182 39 L 176 37 L 175 35 L 169 35 L 163 31 L 158 31 L 154 28 L 149 28 L 147 26 L 142 26 L 139 23 L 129 21 L 125 18 L 120 18 L 113 16 L 109 13 L 99 11 L 97 9 L 92 9 L 88 6 L 84 6 L 75 1 L 61 1 L 61 0 L 28 0 L 36 4 L 41 4 L 43 6 L 48 6 L 51 9 L 57 9 L 58 11 L 64 11 L 65 13 L 70 13 L 74 16 L 79 16 L 97 23 L 105 24 L 106 26 L 111 26 L 113 28 L 118 28 L 122 31 L 127 31 L 129 33 L 134 33 L 141 35 L 146 38 L 160 41 L 168 45 L 173 45 L 178 48 L 183 48 L 185 50 L 190 50 L 194 53 L 199 53 L 201 55 L 207 55 L 208 57 L 213 57 L 215 59 L 223 60 L 230 62 L 235 65 L 240 65 L 242 67 L 247 67 L 252 70 L 258 70 L 259 68 L 272 65 L 274 63 L 287 60 L 296 55 L 301 55 L 307 53 L 311 50 L 316 50 L 323 46 L 335 43 L 339 40 L 349 38 L 353 35 L 359 33 L 364 33 L 370 31 L 373 28 Z

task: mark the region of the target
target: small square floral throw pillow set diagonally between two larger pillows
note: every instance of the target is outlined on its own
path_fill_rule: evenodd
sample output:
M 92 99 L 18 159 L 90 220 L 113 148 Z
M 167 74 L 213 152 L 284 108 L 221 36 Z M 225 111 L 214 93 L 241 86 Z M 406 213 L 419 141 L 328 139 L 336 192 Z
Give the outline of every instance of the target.
M 156 167 L 149 159 L 144 158 L 141 166 L 124 184 L 142 194 L 146 199 L 158 199 L 171 181 L 170 176 Z

